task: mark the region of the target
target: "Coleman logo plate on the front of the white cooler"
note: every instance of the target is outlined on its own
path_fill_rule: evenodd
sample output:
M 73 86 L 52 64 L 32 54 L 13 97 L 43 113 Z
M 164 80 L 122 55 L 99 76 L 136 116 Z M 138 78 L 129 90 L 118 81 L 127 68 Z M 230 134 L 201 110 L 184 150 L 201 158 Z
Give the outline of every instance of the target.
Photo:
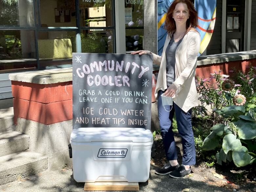
M 126 148 L 100 148 L 98 158 L 125 158 L 128 149 Z

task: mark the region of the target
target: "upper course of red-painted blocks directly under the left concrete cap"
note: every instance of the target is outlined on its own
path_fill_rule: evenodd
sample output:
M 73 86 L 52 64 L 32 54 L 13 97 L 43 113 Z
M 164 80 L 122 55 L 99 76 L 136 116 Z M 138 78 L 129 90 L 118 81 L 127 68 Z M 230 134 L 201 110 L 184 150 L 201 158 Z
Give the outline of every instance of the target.
M 35 84 L 11 81 L 12 95 L 40 103 L 52 103 L 72 99 L 72 81 L 54 84 Z

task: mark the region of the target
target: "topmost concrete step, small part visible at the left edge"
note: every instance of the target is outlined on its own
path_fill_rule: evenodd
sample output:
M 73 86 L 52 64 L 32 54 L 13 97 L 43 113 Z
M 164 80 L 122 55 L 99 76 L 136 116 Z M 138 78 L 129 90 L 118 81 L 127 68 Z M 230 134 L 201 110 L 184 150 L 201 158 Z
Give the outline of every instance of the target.
M 13 107 L 0 108 L 0 132 L 13 130 L 13 116 Z

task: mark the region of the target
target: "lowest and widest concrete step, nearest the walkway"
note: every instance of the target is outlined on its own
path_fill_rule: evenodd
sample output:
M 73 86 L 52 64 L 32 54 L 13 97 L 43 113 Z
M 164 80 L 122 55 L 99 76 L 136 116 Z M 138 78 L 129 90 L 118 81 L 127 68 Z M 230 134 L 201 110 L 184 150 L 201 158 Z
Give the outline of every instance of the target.
M 0 185 L 47 169 L 48 157 L 30 150 L 0 157 Z

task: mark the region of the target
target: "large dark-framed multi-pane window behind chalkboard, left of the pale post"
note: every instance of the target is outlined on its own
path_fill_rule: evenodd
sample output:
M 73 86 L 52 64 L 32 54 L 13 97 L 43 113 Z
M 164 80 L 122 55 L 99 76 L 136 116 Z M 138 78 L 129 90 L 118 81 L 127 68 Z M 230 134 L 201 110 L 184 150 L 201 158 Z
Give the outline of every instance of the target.
M 0 73 L 71 65 L 75 52 L 115 53 L 114 0 L 76 2 L 0 1 Z

